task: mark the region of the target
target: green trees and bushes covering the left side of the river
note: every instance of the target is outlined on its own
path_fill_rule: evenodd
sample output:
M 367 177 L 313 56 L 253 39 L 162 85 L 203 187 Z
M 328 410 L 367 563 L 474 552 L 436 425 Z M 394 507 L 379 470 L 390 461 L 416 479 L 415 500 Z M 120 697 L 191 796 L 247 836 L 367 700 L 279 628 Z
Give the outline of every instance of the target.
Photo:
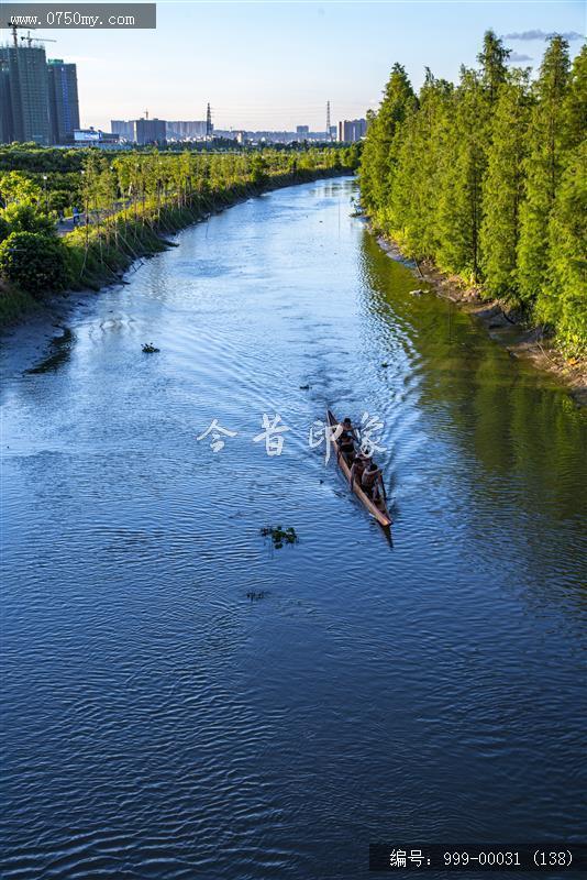
M 356 147 L 106 154 L 0 150 L 0 323 L 49 293 L 99 289 L 164 237 L 242 198 L 356 170 Z M 78 226 L 58 234 L 57 218 Z

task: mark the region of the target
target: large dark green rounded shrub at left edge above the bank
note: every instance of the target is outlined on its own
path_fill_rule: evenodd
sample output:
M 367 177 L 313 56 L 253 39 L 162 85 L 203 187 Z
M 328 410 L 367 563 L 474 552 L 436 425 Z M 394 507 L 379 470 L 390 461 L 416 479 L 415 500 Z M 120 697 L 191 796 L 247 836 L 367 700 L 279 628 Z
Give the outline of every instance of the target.
M 35 298 L 67 285 L 59 239 L 41 232 L 11 232 L 0 244 L 0 274 Z

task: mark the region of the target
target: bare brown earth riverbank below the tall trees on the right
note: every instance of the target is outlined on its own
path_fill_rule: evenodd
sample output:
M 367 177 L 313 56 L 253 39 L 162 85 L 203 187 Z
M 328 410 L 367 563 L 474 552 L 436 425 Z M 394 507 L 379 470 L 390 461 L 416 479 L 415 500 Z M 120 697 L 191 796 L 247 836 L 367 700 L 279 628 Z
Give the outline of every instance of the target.
M 540 327 L 524 326 L 519 315 L 498 299 L 485 299 L 480 287 L 472 287 L 455 275 L 441 272 L 430 261 L 418 263 L 408 257 L 396 241 L 373 230 L 381 250 L 407 265 L 418 282 L 444 299 L 450 299 L 479 321 L 489 336 L 503 345 L 512 358 L 524 358 L 539 370 L 554 374 L 578 406 L 587 407 L 587 361 L 569 360 L 544 336 Z M 416 288 L 418 289 L 418 288 Z

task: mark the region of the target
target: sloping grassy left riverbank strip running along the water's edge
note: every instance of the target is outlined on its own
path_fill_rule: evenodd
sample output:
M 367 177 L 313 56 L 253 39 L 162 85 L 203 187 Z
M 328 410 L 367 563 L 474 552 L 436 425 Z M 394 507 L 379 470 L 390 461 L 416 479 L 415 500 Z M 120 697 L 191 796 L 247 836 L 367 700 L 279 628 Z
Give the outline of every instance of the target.
M 158 208 L 156 213 L 147 213 L 144 207 L 137 205 L 130 206 L 120 215 L 122 222 L 107 231 L 92 226 L 88 229 L 78 228 L 65 235 L 63 241 L 68 249 L 73 274 L 79 283 L 57 295 L 46 293 L 36 297 L 2 280 L 0 331 L 31 318 L 43 320 L 47 312 L 49 318 L 60 319 L 60 300 L 64 298 L 79 296 L 87 290 L 98 293 L 104 287 L 124 284 L 124 275 L 133 264 L 173 246 L 168 240 L 170 235 L 207 220 L 212 213 L 275 189 L 350 174 L 353 174 L 351 168 L 340 167 L 266 175 L 255 184 L 235 183 L 217 190 L 198 193 L 181 207 Z M 56 304 L 59 304 L 57 309 Z

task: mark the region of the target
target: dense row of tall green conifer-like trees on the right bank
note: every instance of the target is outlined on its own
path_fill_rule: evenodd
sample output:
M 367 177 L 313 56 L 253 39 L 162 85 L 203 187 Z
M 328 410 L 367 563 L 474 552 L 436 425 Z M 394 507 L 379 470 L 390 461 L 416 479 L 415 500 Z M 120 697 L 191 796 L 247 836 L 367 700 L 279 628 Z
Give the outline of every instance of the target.
M 485 34 L 456 85 L 427 68 L 416 95 L 396 64 L 372 113 L 363 206 L 403 252 L 587 350 L 587 51 L 552 36 L 540 72 Z

